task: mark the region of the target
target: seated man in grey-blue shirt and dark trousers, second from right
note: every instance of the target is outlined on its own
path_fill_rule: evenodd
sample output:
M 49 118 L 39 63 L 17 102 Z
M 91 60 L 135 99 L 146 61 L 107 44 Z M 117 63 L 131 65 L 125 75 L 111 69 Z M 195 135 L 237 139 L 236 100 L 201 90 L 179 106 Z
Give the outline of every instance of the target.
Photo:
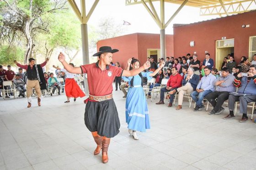
M 220 114 L 224 111 L 222 104 L 225 100 L 229 99 L 230 92 L 235 92 L 235 86 L 233 85 L 234 79 L 235 77 L 230 74 L 228 67 L 224 67 L 221 70 L 221 76 L 213 82 L 216 86 L 216 91 L 206 96 L 209 103 L 213 106 L 213 110 L 208 114 Z

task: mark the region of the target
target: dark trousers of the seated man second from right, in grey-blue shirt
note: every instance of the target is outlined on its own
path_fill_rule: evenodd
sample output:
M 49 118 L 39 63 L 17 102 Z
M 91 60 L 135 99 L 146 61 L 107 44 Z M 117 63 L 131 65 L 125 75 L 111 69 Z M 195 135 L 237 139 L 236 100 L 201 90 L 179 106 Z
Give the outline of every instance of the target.
M 229 99 L 229 92 L 213 92 L 213 93 L 209 93 L 206 96 L 207 100 L 209 101 L 209 103 L 211 103 L 211 105 L 213 106 L 213 110 L 214 111 L 218 111 L 222 104 L 225 102 L 225 100 Z M 215 100 L 217 98 L 217 101 Z

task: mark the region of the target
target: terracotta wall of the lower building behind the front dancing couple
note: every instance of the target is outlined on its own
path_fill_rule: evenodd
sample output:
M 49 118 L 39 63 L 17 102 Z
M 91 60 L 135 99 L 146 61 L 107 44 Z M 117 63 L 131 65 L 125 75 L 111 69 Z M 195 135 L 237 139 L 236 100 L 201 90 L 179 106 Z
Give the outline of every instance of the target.
M 173 35 L 166 35 L 166 56 L 173 56 Z M 135 57 L 141 63 L 146 62 L 147 49 L 160 49 L 160 35 L 148 33 L 134 33 L 118 36 L 97 42 L 97 51 L 101 46 L 111 46 L 119 52 L 113 54 L 113 63 L 119 62 L 121 67 L 126 66 L 129 58 Z

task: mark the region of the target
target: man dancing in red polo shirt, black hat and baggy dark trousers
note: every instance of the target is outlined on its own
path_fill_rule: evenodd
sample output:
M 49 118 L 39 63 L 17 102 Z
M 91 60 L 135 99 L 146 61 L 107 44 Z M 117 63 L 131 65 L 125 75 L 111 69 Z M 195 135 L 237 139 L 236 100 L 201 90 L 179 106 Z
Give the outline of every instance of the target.
M 85 100 L 85 125 L 91 131 L 97 144 L 94 155 L 98 155 L 102 149 L 102 162 L 108 162 L 107 149 L 110 138 L 119 133 L 120 122 L 117 108 L 112 98 L 112 82 L 115 77 L 135 76 L 150 67 L 150 62 L 144 63 L 142 67 L 135 70 L 123 70 L 121 67 L 112 66 L 112 56 L 117 49 L 110 46 L 101 46 L 99 52 L 93 56 L 98 56 L 96 63 L 86 64 L 80 67 L 72 67 L 65 61 L 65 56 L 61 52 L 59 61 L 70 73 L 87 73 L 89 98 Z M 131 61 L 131 60 L 130 60 Z M 102 86 L 104 84 L 104 86 Z

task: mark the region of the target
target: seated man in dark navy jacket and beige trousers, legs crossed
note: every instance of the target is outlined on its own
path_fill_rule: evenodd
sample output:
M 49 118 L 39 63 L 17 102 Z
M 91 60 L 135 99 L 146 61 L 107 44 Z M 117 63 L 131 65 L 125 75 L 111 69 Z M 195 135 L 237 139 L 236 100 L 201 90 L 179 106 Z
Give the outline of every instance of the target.
M 183 96 L 186 93 L 192 93 L 197 88 L 197 84 L 199 82 L 199 76 L 194 74 L 193 68 L 187 69 L 187 77 L 182 80 L 182 87 L 172 90 L 172 93 L 178 92 L 178 106 L 176 110 L 180 110 L 182 108 Z

